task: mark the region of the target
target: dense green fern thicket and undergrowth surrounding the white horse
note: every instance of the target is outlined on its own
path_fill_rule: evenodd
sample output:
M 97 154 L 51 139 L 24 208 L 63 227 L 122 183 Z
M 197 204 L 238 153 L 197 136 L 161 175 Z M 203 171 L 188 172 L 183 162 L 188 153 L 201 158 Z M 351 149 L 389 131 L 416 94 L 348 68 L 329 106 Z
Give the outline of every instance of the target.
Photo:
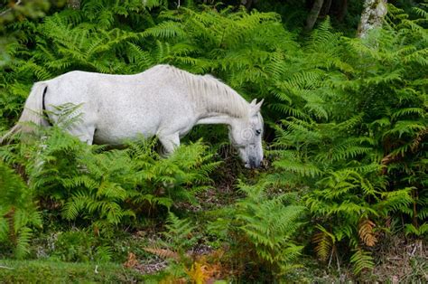
M 426 279 L 426 5 L 396 1 L 383 29 L 358 39 L 362 6 L 340 14 L 344 1 L 329 2 L 312 31 L 313 1 L 5 7 L 3 133 L 35 81 L 168 63 L 265 99 L 266 161 L 244 169 L 218 126 L 195 128 L 169 158 L 154 140 L 110 149 L 60 128 L 16 137 L 0 149 L 0 256 L 32 261 L 1 262 L 0 278 Z M 371 274 L 396 243 L 407 274 Z M 85 264 L 55 264 L 57 276 L 53 260 Z M 95 265 L 103 272 L 89 273 Z

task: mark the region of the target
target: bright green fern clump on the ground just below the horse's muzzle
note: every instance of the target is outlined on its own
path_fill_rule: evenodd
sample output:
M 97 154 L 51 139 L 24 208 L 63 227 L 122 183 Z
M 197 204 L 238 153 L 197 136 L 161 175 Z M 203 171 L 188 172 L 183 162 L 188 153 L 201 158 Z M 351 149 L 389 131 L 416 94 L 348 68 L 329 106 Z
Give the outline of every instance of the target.
M 214 212 L 221 216 L 210 224 L 210 232 L 230 241 L 235 265 L 251 265 L 278 277 L 299 267 L 302 246 L 294 241 L 302 226 L 305 208 L 297 205 L 296 194 L 269 196 L 267 184 L 243 185 L 246 197 L 231 208 Z

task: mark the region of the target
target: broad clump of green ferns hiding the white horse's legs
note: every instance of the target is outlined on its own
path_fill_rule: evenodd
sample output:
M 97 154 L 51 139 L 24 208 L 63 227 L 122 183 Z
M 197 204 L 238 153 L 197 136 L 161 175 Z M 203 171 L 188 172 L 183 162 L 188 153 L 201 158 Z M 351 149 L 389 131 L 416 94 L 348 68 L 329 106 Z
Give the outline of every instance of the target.
M 154 151 L 155 142 L 103 151 L 54 127 L 33 144 L 5 147 L 3 156 L 25 166 L 30 188 L 57 204 L 65 220 L 100 230 L 135 223 L 158 207 L 169 210 L 175 201 L 194 202 L 194 194 L 209 184 L 209 173 L 219 163 L 209 162 L 200 142 L 180 147 L 169 158 Z

